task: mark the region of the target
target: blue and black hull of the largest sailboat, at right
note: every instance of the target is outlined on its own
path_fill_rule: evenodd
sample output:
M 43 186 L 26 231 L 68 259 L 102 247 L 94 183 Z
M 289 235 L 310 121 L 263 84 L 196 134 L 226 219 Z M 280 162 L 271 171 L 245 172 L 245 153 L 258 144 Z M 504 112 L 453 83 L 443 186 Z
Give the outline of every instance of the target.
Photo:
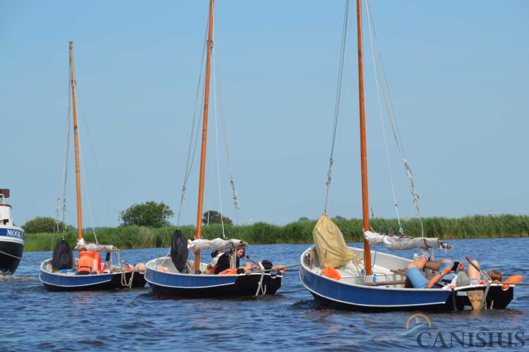
M 310 249 L 308 249 L 310 251 Z M 355 251 L 362 253 L 361 250 Z M 307 251 L 305 251 L 307 253 Z M 305 253 L 301 257 L 300 279 L 303 285 L 314 296 L 317 303 L 324 308 L 341 310 L 363 310 L 363 311 L 394 311 L 394 310 L 467 310 L 472 309 L 468 300 L 467 291 L 485 291 L 486 285 L 472 287 L 461 287 L 456 289 L 405 289 L 400 284 L 393 287 L 391 284 L 380 286 L 368 286 L 366 284 L 354 284 L 342 282 L 320 275 L 320 270 L 310 268 L 304 262 Z M 358 256 L 359 253 L 357 253 Z M 372 252 L 372 255 L 374 253 Z M 377 253 L 382 256 L 384 263 L 391 263 L 392 258 L 398 263 L 394 269 L 402 266 L 403 258 Z M 359 257 L 361 258 L 361 256 Z M 406 260 L 411 261 L 411 260 Z M 381 268 L 374 271 L 380 271 Z M 403 279 L 403 277 L 400 277 Z M 487 294 L 486 308 L 506 308 L 513 298 L 513 287 L 506 291 L 499 285 L 492 285 Z

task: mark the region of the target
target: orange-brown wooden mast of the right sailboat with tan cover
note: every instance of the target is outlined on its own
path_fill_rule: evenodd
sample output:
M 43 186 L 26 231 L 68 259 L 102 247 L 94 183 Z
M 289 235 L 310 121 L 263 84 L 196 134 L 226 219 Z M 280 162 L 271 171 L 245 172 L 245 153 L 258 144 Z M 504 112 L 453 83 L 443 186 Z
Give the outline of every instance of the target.
M 362 167 L 362 214 L 363 230 L 369 226 L 369 196 L 367 194 L 367 142 L 365 134 L 365 106 L 364 106 L 364 63 L 362 47 L 362 0 L 356 0 L 356 27 L 358 32 L 358 98 L 360 106 L 360 161 Z M 371 249 L 369 242 L 364 239 L 364 268 L 365 275 L 372 275 Z

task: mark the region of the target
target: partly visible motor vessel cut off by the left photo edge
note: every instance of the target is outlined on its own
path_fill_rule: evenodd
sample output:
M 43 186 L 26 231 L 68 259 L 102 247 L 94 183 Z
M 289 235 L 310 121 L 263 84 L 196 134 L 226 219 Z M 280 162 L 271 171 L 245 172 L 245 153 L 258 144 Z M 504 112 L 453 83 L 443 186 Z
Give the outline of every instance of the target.
M 24 250 L 24 230 L 13 224 L 9 189 L 0 189 L 0 275 L 15 273 Z

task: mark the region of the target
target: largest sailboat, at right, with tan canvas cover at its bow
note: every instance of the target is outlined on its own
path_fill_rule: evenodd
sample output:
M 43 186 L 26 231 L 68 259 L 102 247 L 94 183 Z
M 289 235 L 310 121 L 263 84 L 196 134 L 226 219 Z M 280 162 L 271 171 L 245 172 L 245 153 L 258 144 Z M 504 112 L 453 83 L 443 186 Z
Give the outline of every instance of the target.
M 312 232 L 315 246 L 304 251 L 300 257 L 299 275 L 301 282 L 320 306 L 329 308 L 364 311 L 454 311 L 472 308 L 506 308 L 513 298 L 513 285 L 494 283 L 488 278 L 478 285 L 467 284 L 466 286 L 444 287 L 443 289 L 405 288 L 406 272 L 404 270 L 412 260 L 373 251 L 370 248 L 371 245 L 385 244 L 388 249 L 395 251 L 421 247 L 449 250 L 452 246 L 437 238 L 408 237 L 402 233 L 399 235 L 379 234 L 370 227 L 361 3 L 362 0 L 356 1 L 363 248 L 353 248 L 346 245 L 339 227 L 327 216 L 326 203 L 324 214 L 317 221 Z M 348 12 L 348 2 L 346 11 Z M 344 30 L 344 37 L 345 35 L 346 31 Z M 330 167 L 327 189 L 329 183 Z M 474 293 L 477 291 L 483 293 L 480 296 L 482 297 L 481 301 L 477 304 L 478 308 L 475 307 L 474 303 L 476 302 L 472 302 L 475 300 L 470 299 L 470 296 L 475 296 Z

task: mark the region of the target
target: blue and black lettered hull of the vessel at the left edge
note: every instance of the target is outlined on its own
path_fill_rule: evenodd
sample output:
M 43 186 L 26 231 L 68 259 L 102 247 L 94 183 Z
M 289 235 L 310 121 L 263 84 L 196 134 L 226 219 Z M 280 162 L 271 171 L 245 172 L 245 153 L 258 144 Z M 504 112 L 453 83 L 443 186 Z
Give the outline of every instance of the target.
M 15 232 L 15 235 L 13 235 Z M 20 227 L 0 227 L 0 273 L 12 275 L 24 250 L 24 232 Z

